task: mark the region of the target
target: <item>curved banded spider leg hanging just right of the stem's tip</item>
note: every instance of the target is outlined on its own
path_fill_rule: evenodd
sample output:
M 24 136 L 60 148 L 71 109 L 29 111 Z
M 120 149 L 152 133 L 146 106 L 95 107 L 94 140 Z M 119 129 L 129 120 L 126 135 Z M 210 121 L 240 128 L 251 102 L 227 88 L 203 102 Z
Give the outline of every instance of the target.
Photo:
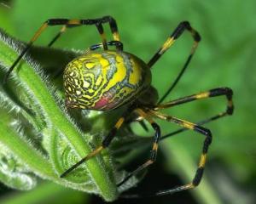
M 153 164 L 154 161 L 156 160 L 156 156 L 157 156 L 157 149 L 158 149 L 158 142 L 160 139 L 160 126 L 155 123 L 152 118 L 150 116 L 148 116 L 148 114 L 143 111 L 142 109 L 137 109 L 135 110 L 137 112 L 137 114 L 139 116 L 142 116 L 145 120 L 147 120 L 151 126 L 154 128 L 154 143 L 152 145 L 152 150 L 149 156 L 148 161 L 144 162 L 142 165 L 140 165 L 139 167 L 137 167 L 136 170 L 134 170 L 133 172 L 129 173 L 119 184 L 118 186 L 125 184 L 125 182 L 131 178 L 133 175 L 137 174 L 138 172 L 142 171 L 144 168 L 148 167 L 149 165 Z

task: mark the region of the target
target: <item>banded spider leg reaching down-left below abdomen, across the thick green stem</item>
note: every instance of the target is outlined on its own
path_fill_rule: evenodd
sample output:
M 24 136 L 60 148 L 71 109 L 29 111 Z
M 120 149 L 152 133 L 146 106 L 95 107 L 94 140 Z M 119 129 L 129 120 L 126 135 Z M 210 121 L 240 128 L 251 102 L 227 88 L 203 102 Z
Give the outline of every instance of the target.
M 72 167 L 68 168 L 64 173 L 61 174 L 61 178 L 67 176 L 68 173 L 71 173 L 75 168 L 79 167 L 82 163 L 84 163 L 87 160 L 90 160 L 91 157 L 96 156 L 98 153 L 100 153 L 103 149 L 107 148 L 108 145 L 113 140 L 114 136 L 116 135 L 119 128 L 122 126 L 122 124 L 125 122 L 126 116 L 128 116 L 132 111 L 132 108 L 129 108 L 127 111 L 125 111 L 125 114 L 119 118 L 119 120 L 115 123 L 114 127 L 110 130 L 107 137 L 102 140 L 102 145 L 97 147 L 95 150 L 90 152 L 87 156 L 84 156 L 80 161 L 75 163 Z

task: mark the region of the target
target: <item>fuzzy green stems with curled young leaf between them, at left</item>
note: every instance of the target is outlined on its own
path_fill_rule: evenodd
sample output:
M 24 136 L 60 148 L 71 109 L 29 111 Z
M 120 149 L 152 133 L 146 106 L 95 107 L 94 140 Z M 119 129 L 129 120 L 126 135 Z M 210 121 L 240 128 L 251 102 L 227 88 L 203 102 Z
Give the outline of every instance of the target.
M 17 57 L 13 48 L 20 52 L 23 47 L 22 43 L 1 31 L 2 80 L 3 72 Z M 0 143 L 38 177 L 74 189 L 93 192 L 102 195 L 106 201 L 113 201 L 118 191 L 112 163 L 107 162 L 109 156 L 107 159 L 96 156 L 87 161 L 82 166 L 86 173 L 80 174 L 78 169 L 72 176 L 59 178 L 67 167 L 86 156 L 97 144 L 93 144 L 90 134 L 84 135 L 73 122 L 66 107 L 61 103 L 60 95 L 55 92 L 56 88 L 49 84 L 40 67 L 28 56 L 26 60 L 28 63 L 23 62 L 19 69 L 15 68 L 8 86 L 1 88 L 1 95 L 4 97 L 0 102 L 0 110 L 3 112 Z M 17 93 L 17 90 L 22 91 Z M 12 109 L 15 114 L 22 116 L 17 120 L 24 131 L 19 131 L 18 128 L 10 129 L 10 123 L 15 120 L 15 114 L 9 114 Z M 26 130 L 24 124 L 30 128 Z

